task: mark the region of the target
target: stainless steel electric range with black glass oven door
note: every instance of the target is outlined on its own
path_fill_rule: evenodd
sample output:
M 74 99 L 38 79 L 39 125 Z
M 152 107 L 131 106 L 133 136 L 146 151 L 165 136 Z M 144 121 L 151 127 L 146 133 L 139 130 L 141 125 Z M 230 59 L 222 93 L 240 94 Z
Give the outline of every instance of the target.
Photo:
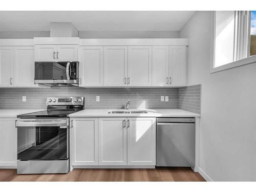
M 47 110 L 17 116 L 17 174 L 69 172 L 69 114 L 83 97 L 50 97 Z

